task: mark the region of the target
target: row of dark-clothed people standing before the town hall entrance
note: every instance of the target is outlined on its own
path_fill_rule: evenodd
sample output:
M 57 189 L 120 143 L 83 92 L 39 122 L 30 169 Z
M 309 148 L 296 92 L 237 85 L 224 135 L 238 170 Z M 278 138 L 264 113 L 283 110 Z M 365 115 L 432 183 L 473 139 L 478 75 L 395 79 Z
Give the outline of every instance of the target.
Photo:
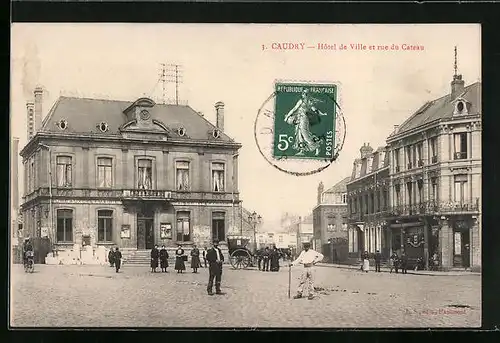
M 203 259 L 205 260 L 205 267 L 207 265 L 206 262 L 206 248 L 203 251 Z M 193 273 L 198 273 L 199 268 L 203 268 L 200 261 L 200 250 L 196 247 L 196 245 L 191 249 L 191 268 L 193 269 Z M 162 245 L 161 249 L 158 249 L 158 245 L 155 245 L 151 250 L 151 273 L 156 273 L 158 268 L 158 262 L 161 268 L 161 271 L 164 273 L 168 273 L 168 251 L 167 248 Z M 184 252 L 184 249 L 181 245 L 177 247 L 175 251 L 175 266 L 174 269 L 177 273 L 182 274 L 186 270 L 186 262 L 187 255 Z

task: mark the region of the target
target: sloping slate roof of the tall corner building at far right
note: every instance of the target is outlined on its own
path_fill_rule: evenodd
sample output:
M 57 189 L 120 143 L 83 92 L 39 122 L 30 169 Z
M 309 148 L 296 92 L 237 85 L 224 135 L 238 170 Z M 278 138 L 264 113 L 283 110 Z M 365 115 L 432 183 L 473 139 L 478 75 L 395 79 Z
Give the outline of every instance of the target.
M 458 97 L 461 97 L 471 103 L 469 114 L 482 113 L 481 82 L 475 82 L 468 85 L 464 88 L 464 92 Z M 441 98 L 426 102 L 412 116 L 404 121 L 396 132 L 389 135 L 389 138 L 433 121 L 451 118 L 454 110 L 453 100 L 455 99 L 451 98 L 451 94 L 447 94 Z

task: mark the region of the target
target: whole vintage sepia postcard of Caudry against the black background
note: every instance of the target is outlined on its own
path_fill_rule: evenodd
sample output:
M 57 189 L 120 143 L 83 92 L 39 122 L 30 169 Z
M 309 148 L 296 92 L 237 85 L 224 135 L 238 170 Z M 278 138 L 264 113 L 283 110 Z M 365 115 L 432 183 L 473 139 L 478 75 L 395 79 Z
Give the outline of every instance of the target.
M 480 25 L 11 32 L 11 328 L 481 326 Z

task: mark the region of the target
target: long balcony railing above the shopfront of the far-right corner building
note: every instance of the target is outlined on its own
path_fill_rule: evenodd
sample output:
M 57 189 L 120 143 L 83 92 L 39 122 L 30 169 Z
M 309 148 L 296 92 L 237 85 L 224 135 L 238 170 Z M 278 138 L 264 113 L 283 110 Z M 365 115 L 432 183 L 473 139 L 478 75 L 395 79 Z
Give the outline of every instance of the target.
M 419 204 L 401 205 L 391 207 L 391 216 L 412 216 L 419 214 L 446 214 L 479 212 L 479 198 L 463 202 L 437 202 L 426 201 Z

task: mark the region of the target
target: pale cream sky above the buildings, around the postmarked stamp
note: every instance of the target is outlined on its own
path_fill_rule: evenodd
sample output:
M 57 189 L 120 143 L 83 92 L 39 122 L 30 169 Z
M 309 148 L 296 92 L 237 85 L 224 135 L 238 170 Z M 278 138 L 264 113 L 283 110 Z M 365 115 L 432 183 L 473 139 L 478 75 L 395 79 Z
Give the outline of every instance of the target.
M 325 188 L 351 174 L 359 148 L 385 144 L 394 125 L 450 91 L 454 46 L 465 83 L 480 81 L 481 27 L 439 25 L 25 24 L 11 30 L 11 137 L 26 144 L 26 101 L 44 89 L 44 116 L 60 95 L 134 101 L 162 97 L 160 64 L 182 65 L 181 101 L 215 123 L 225 103 L 225 131 L 243 145 L 243 206 L 274 225 L 283 212 L 309 214 Z M 346 50 L 273 50 L 273 43 L 345 44 Z M 366 45 L 366 50 L 350 49 Z M 399 50 L 369 50 L 370 45 Z M 424 50 L 403 50 L 402 44 Z M 263 50 L 262 46 L 266 49 Z M 300 46 L 300 45 L 299 45 Z M 274 169 L 260 155 L 253 124 L 276 79 L 340 84 L 347 125 L 340 156 L 311 176 Z M 167 98 L 174 98 L 173 84 Z M 19 180 L 22 180 L 19 161 Z M 22 182 L 20 192 L 22 193 Z

